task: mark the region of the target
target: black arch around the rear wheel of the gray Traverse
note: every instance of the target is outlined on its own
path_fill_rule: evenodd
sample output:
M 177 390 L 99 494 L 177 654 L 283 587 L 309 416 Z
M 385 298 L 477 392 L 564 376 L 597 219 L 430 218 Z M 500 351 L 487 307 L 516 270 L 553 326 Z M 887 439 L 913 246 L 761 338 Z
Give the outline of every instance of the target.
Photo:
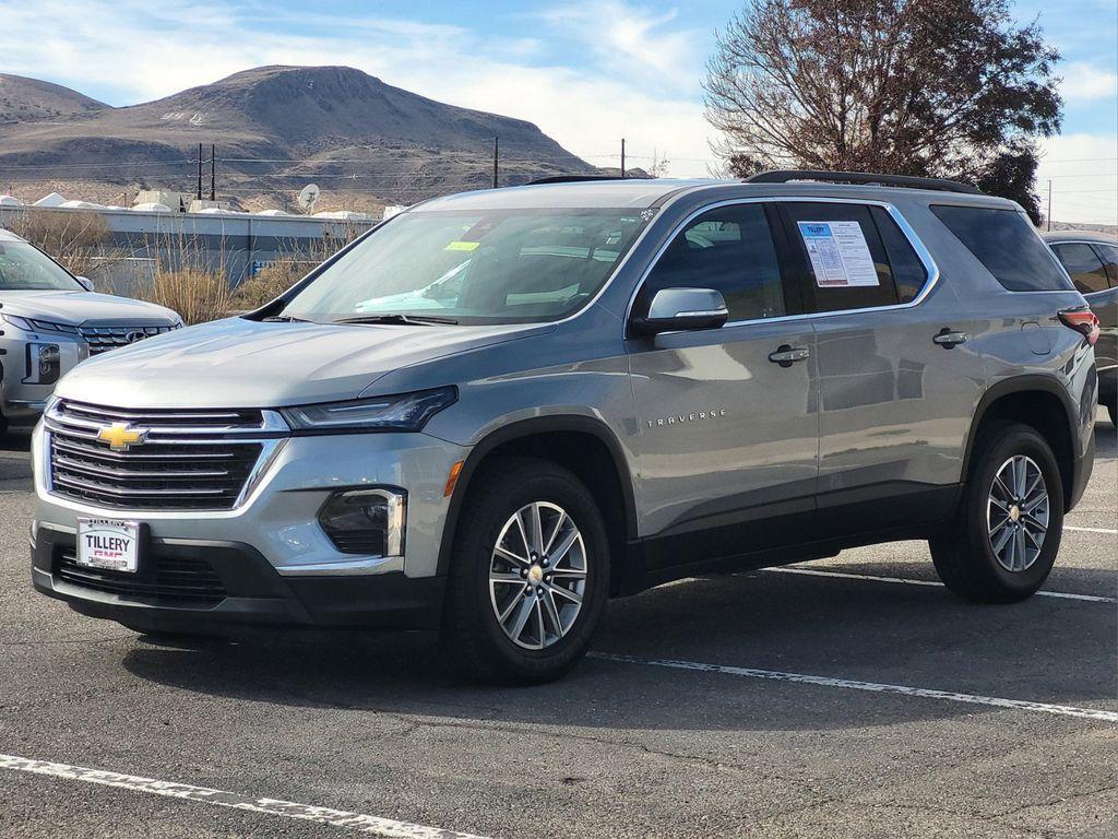
M 1043 436 L 1060 468 L 1065 510 L 1074 505 L 1077 486 L 1077 407 L 1063 385 L 1048 376 L 1014 376 L 998 381 L 979 399 L 963 459 L 963 480 L 970 474 L 975 444 L 983 430 L 997 421 L 1013 420 Z

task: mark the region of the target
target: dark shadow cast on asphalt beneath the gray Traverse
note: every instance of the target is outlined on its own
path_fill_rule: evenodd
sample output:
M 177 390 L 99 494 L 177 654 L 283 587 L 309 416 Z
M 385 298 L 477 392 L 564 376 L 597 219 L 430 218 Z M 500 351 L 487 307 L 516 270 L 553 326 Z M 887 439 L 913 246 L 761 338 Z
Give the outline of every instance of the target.
M 974 606 L 931 587 L 793 575 L 689 581 L 610 604 L 597 649 L 1076 705 L 1116 692 L 1112 609 L 1033 598 Z M 1026 648 L 1006 644 L 1026 638 Z M 983 706 L 589 659 L 533 688 L 463 682 L 429 639 L 280 635 L 197 647 L 144 639 L 134 676 L 277 706 L 633 729 L 830 729 L 984 713 Z

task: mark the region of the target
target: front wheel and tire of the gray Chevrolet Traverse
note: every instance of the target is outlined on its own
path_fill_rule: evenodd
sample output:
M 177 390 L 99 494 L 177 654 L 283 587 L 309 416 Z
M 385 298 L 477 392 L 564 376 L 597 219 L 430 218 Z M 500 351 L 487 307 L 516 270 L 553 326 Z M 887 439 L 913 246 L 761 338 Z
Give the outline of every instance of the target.
M 467 488 L 454 537 L 444 653 L 479 681 L 558 679 L 586 653 L 608 595 L 609 541 L 601 513 L 578 478 L 548 461 L 502 458 L 483 469 Z M 536 515 L 539 541 L 531 536 Z M 553 564 L 547 550 L 533 559 L 531 547 L 541 543 L 556 555 Z M 491 574 L 500 578 L 491 582 Z M 558 593 L 560 587 L 569 594 Z M 499 612 L 506 615 L 503 621 Z

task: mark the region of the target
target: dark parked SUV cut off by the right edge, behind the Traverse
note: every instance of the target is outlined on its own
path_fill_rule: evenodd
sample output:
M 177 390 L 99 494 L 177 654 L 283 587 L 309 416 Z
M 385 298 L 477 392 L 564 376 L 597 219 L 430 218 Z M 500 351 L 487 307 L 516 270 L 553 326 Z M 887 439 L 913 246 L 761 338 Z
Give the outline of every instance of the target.
M 1118 425 L 1118 241 L 1086 230 L 1045 233 L 1044 241 L 1099 319 L 1099 402 Z

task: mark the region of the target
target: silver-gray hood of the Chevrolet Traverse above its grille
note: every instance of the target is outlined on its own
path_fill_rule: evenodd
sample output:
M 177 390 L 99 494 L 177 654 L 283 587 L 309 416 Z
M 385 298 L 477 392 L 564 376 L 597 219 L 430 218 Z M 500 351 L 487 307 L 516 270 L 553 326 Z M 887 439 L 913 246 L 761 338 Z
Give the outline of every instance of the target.
M 401 367 L 553 329 L 550 323 L 334 326 L 230 318 L 83 361 L 56 393 L 129 408 L 266 408 L 352 399 Z

